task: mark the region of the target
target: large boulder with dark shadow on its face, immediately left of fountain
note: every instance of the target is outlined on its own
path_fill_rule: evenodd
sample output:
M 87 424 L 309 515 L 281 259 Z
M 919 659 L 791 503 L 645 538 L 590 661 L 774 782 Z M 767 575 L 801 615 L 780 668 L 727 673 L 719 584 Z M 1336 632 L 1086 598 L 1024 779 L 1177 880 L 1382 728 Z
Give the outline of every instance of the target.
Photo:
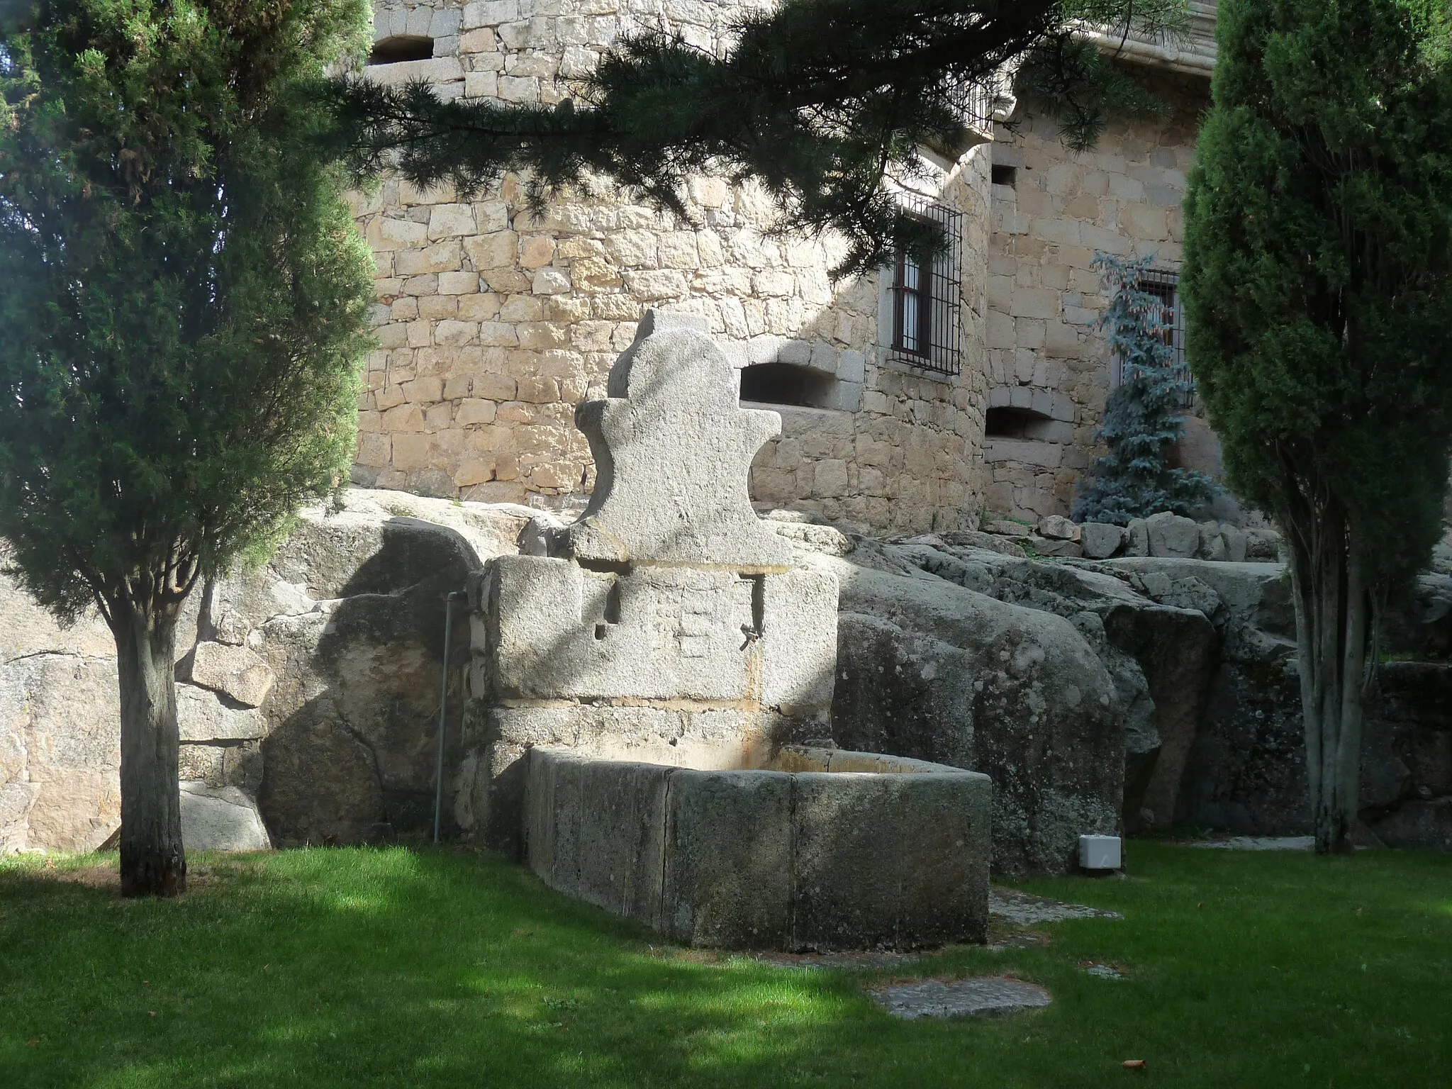
M 219 627 L 276 675 L 264 704 L 258 806 L 279 845 L 424 835 L 433 823 L 446 598 L 513 552 L 533 514 L 510 505 L 348 492 L 309 513 L 267 568 L 218 594 Z M 456 605 L 457 666 L 468 623 Z M 462 761 L 453 674 L 446 791 Z M 459 831 L 453 809 L 446 813 Z

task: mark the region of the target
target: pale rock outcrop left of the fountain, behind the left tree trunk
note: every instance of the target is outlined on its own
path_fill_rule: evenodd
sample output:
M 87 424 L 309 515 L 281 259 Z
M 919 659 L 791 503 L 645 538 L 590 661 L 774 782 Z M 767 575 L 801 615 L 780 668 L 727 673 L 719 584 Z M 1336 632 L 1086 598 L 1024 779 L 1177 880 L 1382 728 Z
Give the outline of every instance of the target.
M 351 491 L 303 511 L 263 568 L 195 591 L 177 637 L 183 841 L 431 828 L 444 594 L 513 552 L 531 514 Z M 94 616 L 60 629 L 3 575 L 0 616 L 0 851 L 94 849 L 121 813 L 110 632 Z M 456 632 L 462 664 L 468 624 Z

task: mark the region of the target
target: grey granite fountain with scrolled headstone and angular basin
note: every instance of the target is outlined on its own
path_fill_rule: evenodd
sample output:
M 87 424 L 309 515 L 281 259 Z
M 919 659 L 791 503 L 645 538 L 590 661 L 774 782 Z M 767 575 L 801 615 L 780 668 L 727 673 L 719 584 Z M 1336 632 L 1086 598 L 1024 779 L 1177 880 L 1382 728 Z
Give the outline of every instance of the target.
M 825 741 L 836 579 L 752 510 L 781 420 L 738 391 L 703 318 L 648 311 L 575 412 L 590 507 L 473 581 L 486 838 L 688 944 L 983 941 L 990 783 Z

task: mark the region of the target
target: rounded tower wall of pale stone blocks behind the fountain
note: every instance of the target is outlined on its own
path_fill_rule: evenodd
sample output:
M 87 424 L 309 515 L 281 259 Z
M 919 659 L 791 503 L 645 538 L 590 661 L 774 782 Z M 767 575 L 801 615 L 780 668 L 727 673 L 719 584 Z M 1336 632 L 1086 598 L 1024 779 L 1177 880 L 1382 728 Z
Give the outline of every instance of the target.
M 430 35 L 434 58 L 373 65 L 444 94 L 558 102 L 621 33 L 678 32 L 722 49 L 733 19 L 772 0 L 489 0 L 380 4 L 375 33 Z M 424 29 L 427 28 L 427 29 Z M 428 495 L 563 505 L 591 489 L 578 402 L 604 393 L 646 306 L 704 315 L 739 366 L 781 362 L 829 379 L 823 408 L 783 408 L 755 498 L 873 527 L 951 529 L 979 505 L 987 150 L 942 167 L 963 211 L 964 375 L 886 360 L 883 292 L 833 283 L 831 238 L 768 237 L 754 186 L 696 179 L 688 221 L 610 183 L 530 215 L 523 180 L 462 200 L 401 180 L 357 196 L 378 260 L 379 348 L 360 404 L 354 482 Z M 775 405 L 774 405 L 775 407 Z

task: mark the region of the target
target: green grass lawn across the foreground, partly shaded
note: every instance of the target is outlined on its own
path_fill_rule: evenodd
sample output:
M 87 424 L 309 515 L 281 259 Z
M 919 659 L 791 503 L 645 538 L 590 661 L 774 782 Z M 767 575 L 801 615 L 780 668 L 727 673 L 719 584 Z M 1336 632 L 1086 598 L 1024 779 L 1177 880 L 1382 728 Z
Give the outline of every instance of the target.
M 202 857 L 176 902 L 96 862 L 0 862 L 3 1089 L 1452 1085 L 1452 857 L 1131 844 L 1130 880 L 1024 886 L 1122 921 L 890 971 L 662 945 L 459 854 Z M 980 973 L 1054 1003 L 900 1022 L 862 993 Z

